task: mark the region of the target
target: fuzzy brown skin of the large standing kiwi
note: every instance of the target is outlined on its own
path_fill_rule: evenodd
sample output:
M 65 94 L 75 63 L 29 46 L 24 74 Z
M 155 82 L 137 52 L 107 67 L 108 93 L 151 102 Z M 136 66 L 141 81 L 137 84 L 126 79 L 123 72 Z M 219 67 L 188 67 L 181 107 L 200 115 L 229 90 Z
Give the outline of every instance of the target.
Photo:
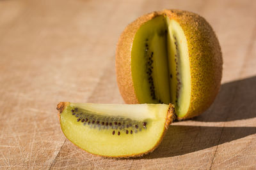
M 139 103 L 131 74 L 132 42 L 140 26 L 159 15 L 177 21 L 186 36 L 191 72 L 191 99 L 188 112 L 178 119 L 196 117 L 211 106 L 220 90 L 223 60 L 220 44 L 211 25 L 200 15 L 189 11 L 154 11 L 141 16 L 125 28 L 116 46 L 116 78 L 120 94 L 125 103 Z

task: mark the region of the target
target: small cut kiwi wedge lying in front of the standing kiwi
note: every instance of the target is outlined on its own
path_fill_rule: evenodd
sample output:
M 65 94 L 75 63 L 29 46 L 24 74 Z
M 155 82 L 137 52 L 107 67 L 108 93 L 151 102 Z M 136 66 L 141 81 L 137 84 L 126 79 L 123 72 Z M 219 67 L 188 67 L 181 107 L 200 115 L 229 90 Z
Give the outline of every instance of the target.
M 86 152 L 103 157 L 138 157 L 152 152 L 174 118 L 172 104 L 57 106 L 65 136 Z

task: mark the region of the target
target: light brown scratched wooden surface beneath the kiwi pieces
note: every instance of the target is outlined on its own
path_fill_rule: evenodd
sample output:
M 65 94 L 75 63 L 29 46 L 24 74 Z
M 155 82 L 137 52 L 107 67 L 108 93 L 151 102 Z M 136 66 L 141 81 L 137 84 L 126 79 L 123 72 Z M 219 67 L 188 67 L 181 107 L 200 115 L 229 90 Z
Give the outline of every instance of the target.
M 164 8 L 212 25 L 223 79 L 209 110 L 175 122 L 153 153 L 104 159 L 60 129 L 56 104 L 124 103 L 115 48 L 127 24 Z M 1 169 L 256 169 L 256 1 L 0 1 Z

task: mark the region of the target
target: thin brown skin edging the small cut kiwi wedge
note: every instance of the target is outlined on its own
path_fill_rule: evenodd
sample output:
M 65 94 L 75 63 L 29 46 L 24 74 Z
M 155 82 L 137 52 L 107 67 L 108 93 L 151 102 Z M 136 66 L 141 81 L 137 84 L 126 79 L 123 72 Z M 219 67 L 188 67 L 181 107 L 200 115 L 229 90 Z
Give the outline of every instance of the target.
M 63 110 L 65 110 L 65 108 L 67 108 L 67 106 L 69 105 L 70 103 L 69 102 L 60 102 L 58 105 L 57 105 L 57 110 L 58 110 L 58 117 L 60 118 L 60 114 L 62 113 Z M 166 115 L 166 120 L 165 120 L 165 123 L 164 123 L 164 131 L 163 131 L 163 134 L 161 136 L 161 138 L 157 141 L 157 144 L 151 149 L 151 150 L 148 150 L 147 152 L 144 152 L 144 153 L 137 153 L 137 154 L 134 154 L 134 155 L 122 155 L 120 157 L 112 157 L 112 156 L 103 156 L 103 155 L 97 155 L 95 153 L 91 153 L 92 155 L 95 155 L 97 157 L 106 157 L 106 158 L 111 158 L 111 159 L 129 159 L 129 158 L 133 158 L 133 157 L 143 157 L 143 155 L 146 155 L 148 153 L 151 153 L 153 152 L 158 146 L 159 144 L 161 143 L 161 141 L 163 140 L 163 137 L 169 127 L 170 124 L 172 124 L 173 120 L 175 120 L 175 110 L 174 110 L 174 106 L 173 104 L 169 104 L 169 108 L 168 108 L 168 111 L 167 111 L 167 115 Z M 61 131 L 63 131 L 62 127 L 61 127 Z M 63 133 L 64 134 L 64 133 Z M 64 134 L 65 135 L 65 134 Z M 65 135 L 65 137 L 67 138 L 67 136 Z M 67 138 L 68 139 L 68 138 Z M 68 139 L 68 141 L 70 141 Z M 70 141 L 72 143 L 72 141 Z M 74 143 L 73 143 L 74 144 Z M 74 144 L 75 146 L 77 146 L 76 144 Z M 79 146 L 77 146 L 78 148 L 80 148 Z M 83 148 L 80 148 L 81 150 L 83 150 Z M 85 152 L 87 153 L 90 153 L 88 152 L 87 150 L 84 150 Z

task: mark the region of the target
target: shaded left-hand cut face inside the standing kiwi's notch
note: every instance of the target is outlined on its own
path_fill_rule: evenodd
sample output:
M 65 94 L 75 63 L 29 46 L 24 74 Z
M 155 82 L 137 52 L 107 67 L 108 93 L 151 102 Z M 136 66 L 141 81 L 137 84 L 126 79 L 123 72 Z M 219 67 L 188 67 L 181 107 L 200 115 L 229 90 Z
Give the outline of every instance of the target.
M 140 103 L 170 103 L 166 55 L 166 22 L 160 16 L 140 27 L 132 45 L 132 80 Z

